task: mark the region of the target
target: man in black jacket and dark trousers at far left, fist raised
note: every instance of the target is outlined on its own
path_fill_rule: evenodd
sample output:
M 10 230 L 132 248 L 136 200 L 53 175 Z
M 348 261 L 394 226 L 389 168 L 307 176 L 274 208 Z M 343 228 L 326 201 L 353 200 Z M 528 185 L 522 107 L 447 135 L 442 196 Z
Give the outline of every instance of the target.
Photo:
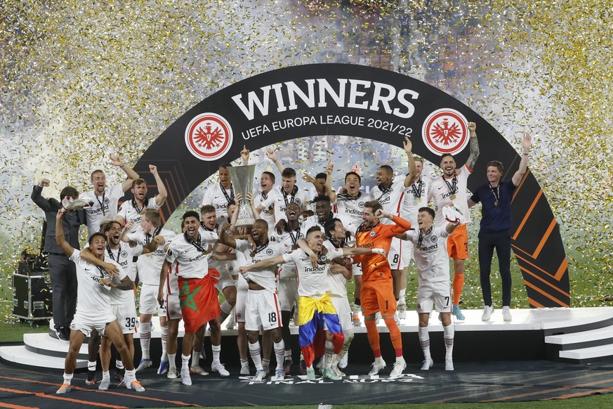
M 53 323 L 58 338 L 70 339 L 69 325 L 77 307 L 77 270 L 74 263 L 66 257 L 55 241 L 55 216 L 62 208 L 61 200 L 70 196 L 77 198 L 79 192 L 71 186 L 66 186 L 60 192 L 58 200 L 42 197 L 43 188 L 49 186 L 49 181 L 42 178 L 32 190 L 32 200 L 45 212 L 47 229 L 45 234 L 45 249 L 48 254 L 49 275 L 53 286 Z M 64 237 L 75 249 L 79 249 L 79 226 L 86 223 L 85 212 L 67 212 L 62 221 Z

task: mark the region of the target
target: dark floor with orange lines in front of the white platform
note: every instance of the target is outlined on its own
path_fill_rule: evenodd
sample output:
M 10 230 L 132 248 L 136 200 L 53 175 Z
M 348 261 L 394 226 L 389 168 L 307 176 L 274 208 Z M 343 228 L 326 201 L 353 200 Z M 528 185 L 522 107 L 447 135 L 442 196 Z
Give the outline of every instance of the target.
M 613 363 L 456 363 L 453 372 L 445 371 L 442 361 L 435 361 L 429 371 L 419 370 L 420 366 L 409 363 L 404 377 L 390 379 L 391 362 L 382 371 L 385 375 L 378 377 L 363 375 L 369 371 L 367 365 L 350 364 L 342 380 L 313 382 L 298 376 L 288 376 L 283 382 L 250 382 L 249 377 L 235 375 L 238 368 L 228 368 L 229 378 L 192 375 L 191 387 L 149 368 L 138 374 L 147 388 L 144 393 L 117 388 L 117 382 L 108 391 L 98 391 L 97 386 L 85 384 L 86 374 L 81 372 L 74 375 L 75 390 L 56 395 L 62 382 L 60 370 L 41 372 L 0 363 L 0 408 L 514 402 L 613 392 Z M 101 376 L 98 371 L 98 379 Z

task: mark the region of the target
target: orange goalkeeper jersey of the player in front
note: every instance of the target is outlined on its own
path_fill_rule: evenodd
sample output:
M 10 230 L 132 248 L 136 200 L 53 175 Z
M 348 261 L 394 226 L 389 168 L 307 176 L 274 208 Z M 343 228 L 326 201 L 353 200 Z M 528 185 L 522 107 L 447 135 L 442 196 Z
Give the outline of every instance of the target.
M 411 228 L 411 223 L 401 217 L 394 216 L 392 221 L 395 224 L 378 223 L 373 228 L 365 229 L 360 226 L 357 233 L 355 233 L 356 247 L 385 249 L 385 254 L 388 254 L 390 252 L 390 245 L 392 245 L 392 238 Z M 354 256 L 354 259 L 362 262 L 362 280 L 392 278 L 387 255 L 367 253 L 359 257 Z

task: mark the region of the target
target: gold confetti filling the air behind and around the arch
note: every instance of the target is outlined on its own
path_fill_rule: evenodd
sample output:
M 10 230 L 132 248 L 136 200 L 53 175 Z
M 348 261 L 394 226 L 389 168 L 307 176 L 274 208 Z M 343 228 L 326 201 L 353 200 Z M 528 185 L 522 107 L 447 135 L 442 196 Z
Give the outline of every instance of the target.
M 21 249 L 39 242 L 43 215 L 29 194 L 41 177 L 51 179 L 44 195 L 53 197 L 69 184 L 88 190 L 96 168 L 106 171 L 109 185 L 119 183 L 123 174 L 105 160 L 108 154 L 119 152 L 126 163 L 136 163 L 170 124 L 219 89 L 278 67 L 352 63 L 442 89 L 516 148 L 522 133 L 531 131 L 530 168 L 560 224 L 572 304 L 611 304 L 609 1 L 4 0 L 2 13 L 5 277 Z M 336 160 L 335 143 L 346 147 L 346 155 L 338 156 L 343 162 Z M 406 166 L 401 149 L 347 136 L 295 139 L 276 148 L 286 165 L 310 174 L 334 159 L 335 183 L 354 166 L 372 177 L 369 162 Z M 266 162 L 263 151 L 252 155 Z M 207 183 L 178 212 L 199 204 Z M 469 306 L 481 305 L 477 227 L 470 232 Z M 513 304 L 527 306 L 516 265 L 513 278 Z

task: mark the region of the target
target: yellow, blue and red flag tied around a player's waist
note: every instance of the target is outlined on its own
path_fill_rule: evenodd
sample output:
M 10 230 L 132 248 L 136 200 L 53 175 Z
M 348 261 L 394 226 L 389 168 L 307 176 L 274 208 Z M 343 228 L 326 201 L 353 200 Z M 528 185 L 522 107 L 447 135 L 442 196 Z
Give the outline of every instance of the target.
M 320 299 L 298 297 L 298 343 L 308 367 L 324 354 L 324 323 L 333 335 L 334 352 L 341 352 L 345 337 L 329 294 Z

